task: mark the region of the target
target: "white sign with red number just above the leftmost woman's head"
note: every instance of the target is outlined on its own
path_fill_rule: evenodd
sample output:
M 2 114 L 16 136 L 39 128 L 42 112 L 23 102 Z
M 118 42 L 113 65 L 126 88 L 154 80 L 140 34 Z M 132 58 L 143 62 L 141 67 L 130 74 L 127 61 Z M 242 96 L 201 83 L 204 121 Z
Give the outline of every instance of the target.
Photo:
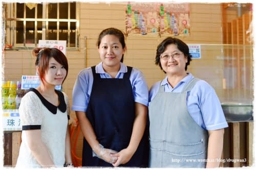
M 64 40 L 39 40 L 38 47 L 58 48 L 66 55 L 66 44 Z

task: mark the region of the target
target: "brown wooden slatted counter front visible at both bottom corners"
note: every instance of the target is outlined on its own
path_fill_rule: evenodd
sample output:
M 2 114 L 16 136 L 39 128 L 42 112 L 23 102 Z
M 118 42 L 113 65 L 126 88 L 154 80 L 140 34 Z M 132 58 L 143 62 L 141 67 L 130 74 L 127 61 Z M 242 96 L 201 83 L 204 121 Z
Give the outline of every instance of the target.
M 253 164 L 253 122 L 228 123 L 225 128 L 221 167 L 242 167 Z M 4 166 L 14 167 L 17 161 L 21 132 L 4 132 Z M 246 160 L 232 161 L 232 160 Z

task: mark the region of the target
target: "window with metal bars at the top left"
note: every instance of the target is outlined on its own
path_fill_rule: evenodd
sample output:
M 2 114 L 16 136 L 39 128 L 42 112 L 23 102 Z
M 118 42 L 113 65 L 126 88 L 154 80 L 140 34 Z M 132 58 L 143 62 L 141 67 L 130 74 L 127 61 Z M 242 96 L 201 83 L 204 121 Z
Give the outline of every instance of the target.
M 78 48 L 79 14 L 76 2 L 4 3 L 5 43 L 29 48 L 39 40 L 66 40 L 67 49 Z

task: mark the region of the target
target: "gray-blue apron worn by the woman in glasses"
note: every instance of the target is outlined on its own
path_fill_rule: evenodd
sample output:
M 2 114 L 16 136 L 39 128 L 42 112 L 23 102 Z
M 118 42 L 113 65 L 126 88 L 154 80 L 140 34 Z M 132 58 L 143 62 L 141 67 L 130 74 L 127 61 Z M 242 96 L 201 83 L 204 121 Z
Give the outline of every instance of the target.
M 159 91 L 150 103 L 149 167 L 205 167 L 208 132 L 187 111 L 187 93 L 199 79 L 193 78 L 182 92 Z

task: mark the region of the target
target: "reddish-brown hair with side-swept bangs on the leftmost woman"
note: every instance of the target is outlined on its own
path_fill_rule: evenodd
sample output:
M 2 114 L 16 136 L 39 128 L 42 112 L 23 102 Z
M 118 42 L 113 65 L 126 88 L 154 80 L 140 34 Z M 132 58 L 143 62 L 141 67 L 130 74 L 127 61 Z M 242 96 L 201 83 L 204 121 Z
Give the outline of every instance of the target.
M 36 57 L 35 65 L 38 66 L 38 75 L 41 80 L 44 80 L 46 71 L 48 70 L 49 60 L 51 57 L 53 57 L 67 70 L 67 75 L 64 78 L 63 82 L 65 81 L 68 76 L 69 65 L 67 57 L 60 50 L 58 50 L 57 48 L 36 47 L 33 49 L 32 53 Z M 44 83 L 44 81 L 42 81 L 42 83 Z

